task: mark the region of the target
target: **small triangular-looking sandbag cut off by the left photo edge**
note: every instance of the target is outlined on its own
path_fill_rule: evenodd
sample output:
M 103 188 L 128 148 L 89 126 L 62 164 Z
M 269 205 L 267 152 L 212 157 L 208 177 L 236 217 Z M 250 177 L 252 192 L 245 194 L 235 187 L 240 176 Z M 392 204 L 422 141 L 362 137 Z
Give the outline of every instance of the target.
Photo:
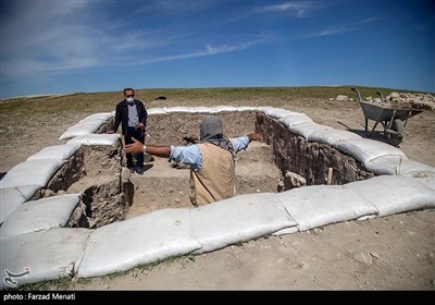
M 0 188 L 0 223 L 17 209 L 20 205 L 29 200 L 39 188 L 41 186 L 35 184 Z

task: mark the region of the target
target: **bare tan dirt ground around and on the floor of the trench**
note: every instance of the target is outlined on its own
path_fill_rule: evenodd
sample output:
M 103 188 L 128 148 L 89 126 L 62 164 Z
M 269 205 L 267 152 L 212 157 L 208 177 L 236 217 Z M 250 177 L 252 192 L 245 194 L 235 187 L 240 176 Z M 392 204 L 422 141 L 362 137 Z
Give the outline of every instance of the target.
M 147 107 L 153 106 L 150 102 Z M 300 101 L 281 108 L 304 112 L 316 123 L 364 135 L 364 118 L 355 103 L 325 100 L 306 106 Z M 400 145 L 408 158 L 433 167 L 434 112 L 425 111 L 410 119 Z M 58 138 L 63 131 L 84 117 L 74 113 L 50 124 L 44 118 L 33 122 L 26 134 L 1 148 L 0 171 L 7 172 L 46 146 L 60 144 Z M 373 138 L 385 141 L 377 134 Z M 257 162 L 260 156 L 262 161 Z M 276 192 L 279 173 L 269 157 L 272 155 L 265 144 L 253 144 L 243 152 L 237 164 L 239 194 Z M 154 179 L 147 179 L 150 176 Z M 171 168 L 166 160 L 148 159 L 145 174 L 134 174 L 132 181 L 136 187 L 135 202 L 149 204 L 134 204 L 127 218 L 158 208 L 190 207 L 188 170 Z M 410 211 L 301 233 L 265 236 L 119 274 L 73 280 L 66 289 L 435 290 L 434 256 L 435 210 Z M 54 284 L 50 289 L 58 288 Z

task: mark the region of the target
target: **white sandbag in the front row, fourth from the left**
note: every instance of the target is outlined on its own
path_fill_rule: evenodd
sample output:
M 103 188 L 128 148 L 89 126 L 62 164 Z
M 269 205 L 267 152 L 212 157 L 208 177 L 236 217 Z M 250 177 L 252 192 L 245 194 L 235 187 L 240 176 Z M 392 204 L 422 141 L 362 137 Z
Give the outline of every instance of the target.
M 377 215 L 374 205 L 344 185 L 304 186 L 278 193 L 277 197 L 298 222 L 299 231 Z

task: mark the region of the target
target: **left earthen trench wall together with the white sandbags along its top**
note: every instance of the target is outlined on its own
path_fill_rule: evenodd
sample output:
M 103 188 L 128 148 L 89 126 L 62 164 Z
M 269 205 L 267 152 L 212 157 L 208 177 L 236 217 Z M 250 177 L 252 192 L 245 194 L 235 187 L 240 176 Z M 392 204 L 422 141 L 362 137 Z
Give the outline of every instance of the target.
M 45 147 L 12 168 L 0 182 L 0 222 L 22 204 L 72 193 L 80 194 L 80 202 L 67 227 L 98 228 L 125 219 L 134 188 L 122 174 L 121 137 L 92 133 L 105 133 L 112 117 L 85 118 L 61 135 L 67 143 Z

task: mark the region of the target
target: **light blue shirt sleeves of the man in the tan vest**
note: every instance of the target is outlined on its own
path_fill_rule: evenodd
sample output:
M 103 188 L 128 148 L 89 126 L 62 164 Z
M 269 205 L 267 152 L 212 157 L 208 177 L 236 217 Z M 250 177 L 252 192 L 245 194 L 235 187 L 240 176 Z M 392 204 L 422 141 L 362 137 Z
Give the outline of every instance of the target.
M 233 143 L 234 152 L 238 152 L 241 149 L 246 149 L 249 145 L 249 137 L 247 135 L 231 138 Z M 179 163 L 190 164 L 194 171 L 199 171 L 202 166 L 202 155 L 199 150 L 198 145 L 189 146 L 173 146 L 171 145 L 170 160 Z

